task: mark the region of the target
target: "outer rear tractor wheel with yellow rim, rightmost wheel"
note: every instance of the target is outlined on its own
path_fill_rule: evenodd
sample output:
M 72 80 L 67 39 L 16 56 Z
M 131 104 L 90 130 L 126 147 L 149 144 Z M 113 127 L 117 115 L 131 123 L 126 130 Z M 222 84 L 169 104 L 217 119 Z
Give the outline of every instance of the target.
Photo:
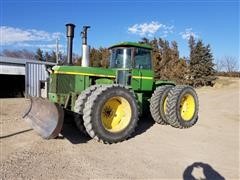
M 192 127 L 198 120 L 198 97 L 190 86 L 176 86 L 168 93 L 166 117 L 176 128 Z

